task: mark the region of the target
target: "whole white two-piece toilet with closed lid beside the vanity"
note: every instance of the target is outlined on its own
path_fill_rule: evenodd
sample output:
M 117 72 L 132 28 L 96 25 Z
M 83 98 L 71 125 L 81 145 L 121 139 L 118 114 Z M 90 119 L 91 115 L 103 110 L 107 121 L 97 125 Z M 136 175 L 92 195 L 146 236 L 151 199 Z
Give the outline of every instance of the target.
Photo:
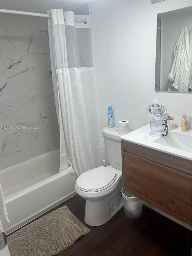
M 117 127 L 103 129 L 107 167 L 82 173 L 76 180 L 76 193 L 86 200 L 85 223 L 100 226 L 109 221 L 123 206 L 121 140 Z

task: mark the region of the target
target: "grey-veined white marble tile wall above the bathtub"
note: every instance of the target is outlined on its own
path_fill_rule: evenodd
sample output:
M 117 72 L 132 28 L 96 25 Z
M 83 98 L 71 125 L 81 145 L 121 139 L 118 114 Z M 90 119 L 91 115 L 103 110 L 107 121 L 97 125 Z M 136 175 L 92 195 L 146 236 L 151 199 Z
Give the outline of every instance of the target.
M 59 129 L 47 19 L 1 14 L 0 31 L 0 169 L 4 169 L 59 148 Z

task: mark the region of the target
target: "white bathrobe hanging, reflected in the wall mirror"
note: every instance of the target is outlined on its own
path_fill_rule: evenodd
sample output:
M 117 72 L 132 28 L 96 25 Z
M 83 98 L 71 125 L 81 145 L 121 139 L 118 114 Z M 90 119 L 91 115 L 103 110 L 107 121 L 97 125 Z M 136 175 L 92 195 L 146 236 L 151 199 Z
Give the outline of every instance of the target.
M 179 37 L 177 38 L 174 54 L 173 65 L 168 75 L 173 84 L 168 91 L 187 92 L 190 75 L 190 53 L 189 53 L 189 28 L 183 25 Z

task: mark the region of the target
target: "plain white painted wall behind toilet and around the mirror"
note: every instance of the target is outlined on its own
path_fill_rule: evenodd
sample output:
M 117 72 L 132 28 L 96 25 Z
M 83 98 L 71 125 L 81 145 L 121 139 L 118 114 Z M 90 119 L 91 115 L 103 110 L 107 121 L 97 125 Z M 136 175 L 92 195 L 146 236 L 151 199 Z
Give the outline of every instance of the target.
M 101 131 L 107 126 L 107 107 L 113 105 L 114 125 L 129 120 L 130 130 L 150 122 L 146 109 L 161 104 L 180 126 L 186 110 L 191 128 L 191 94 L 155 92 L 157 14 L 190 6 L 191 1 L 94 1 L 95 70 Z M 102 141 L 103 142 L 103 141 Z M 103 151 L 104 150 L 104 144 Z M 104 153 L 104 157 L 105 153 Z

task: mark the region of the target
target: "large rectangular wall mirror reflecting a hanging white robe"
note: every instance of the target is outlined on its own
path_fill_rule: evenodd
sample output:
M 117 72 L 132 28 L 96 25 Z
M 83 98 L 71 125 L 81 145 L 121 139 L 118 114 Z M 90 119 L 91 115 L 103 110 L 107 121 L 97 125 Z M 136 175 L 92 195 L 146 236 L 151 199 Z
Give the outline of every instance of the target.
M 192 92 L 191 10 L 189 6 L 157 15 L 156 92 Z

